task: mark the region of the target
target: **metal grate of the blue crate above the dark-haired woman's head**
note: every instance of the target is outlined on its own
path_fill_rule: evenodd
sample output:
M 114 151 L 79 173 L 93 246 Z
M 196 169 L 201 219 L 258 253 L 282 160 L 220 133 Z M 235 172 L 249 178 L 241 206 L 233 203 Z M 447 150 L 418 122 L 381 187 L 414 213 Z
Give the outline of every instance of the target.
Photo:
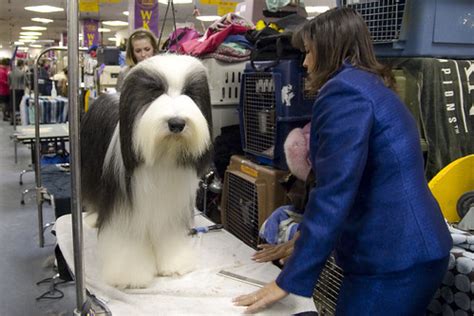
M 365 20 L 374 44 L 396 42 L 406 0 L 342 0 L 341 4 L 359 12 Z

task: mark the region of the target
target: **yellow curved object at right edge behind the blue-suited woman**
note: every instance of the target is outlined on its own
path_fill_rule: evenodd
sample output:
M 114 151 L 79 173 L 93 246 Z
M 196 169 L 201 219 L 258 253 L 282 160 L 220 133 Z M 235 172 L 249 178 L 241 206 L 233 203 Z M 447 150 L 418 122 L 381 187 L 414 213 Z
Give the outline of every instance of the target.
M 474 155 L 461 157 L 444 167 L 428 183 L 441 212 L 449 223 L 461 220 L 456 204 L 464 193 L 474 190 Z

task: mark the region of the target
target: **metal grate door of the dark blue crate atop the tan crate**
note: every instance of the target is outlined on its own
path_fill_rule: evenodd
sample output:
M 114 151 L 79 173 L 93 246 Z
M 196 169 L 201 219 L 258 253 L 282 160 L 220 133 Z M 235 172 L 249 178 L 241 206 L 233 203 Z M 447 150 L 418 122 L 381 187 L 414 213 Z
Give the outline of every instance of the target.
M 245 151 L 272 159 L 276 134 L 275 83 L 272 74 L 245 77 L 243 119 Z

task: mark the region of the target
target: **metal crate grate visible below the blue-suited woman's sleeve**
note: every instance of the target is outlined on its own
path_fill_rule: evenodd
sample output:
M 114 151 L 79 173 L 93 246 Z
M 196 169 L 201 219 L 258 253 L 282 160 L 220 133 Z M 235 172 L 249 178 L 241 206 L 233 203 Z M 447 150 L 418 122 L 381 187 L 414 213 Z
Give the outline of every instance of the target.
M 313 293 L 314 304 L 319 315 L 329 316 L 336 314 L 337 298 L 341 289 L 342 279 L 342 269 L 336 264 L 333 256 L 329 257 L 319 275 Z

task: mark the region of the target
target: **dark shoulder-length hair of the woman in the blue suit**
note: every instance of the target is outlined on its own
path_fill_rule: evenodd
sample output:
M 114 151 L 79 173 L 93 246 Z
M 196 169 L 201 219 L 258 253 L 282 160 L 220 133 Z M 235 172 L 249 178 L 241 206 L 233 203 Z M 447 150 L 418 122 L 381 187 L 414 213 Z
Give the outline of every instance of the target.
M 392 72 L 375 58 L 364 19 L 351 8 L 334 8 L 306 22 L 294 34 L 292 44 L 311 51 L 315 63 L 314 69 L 308 69 L 308 73 L 310 85 L 316 90 L 339 70 L 344 61 L 379 75 L 387 87 L 395 89 Z

